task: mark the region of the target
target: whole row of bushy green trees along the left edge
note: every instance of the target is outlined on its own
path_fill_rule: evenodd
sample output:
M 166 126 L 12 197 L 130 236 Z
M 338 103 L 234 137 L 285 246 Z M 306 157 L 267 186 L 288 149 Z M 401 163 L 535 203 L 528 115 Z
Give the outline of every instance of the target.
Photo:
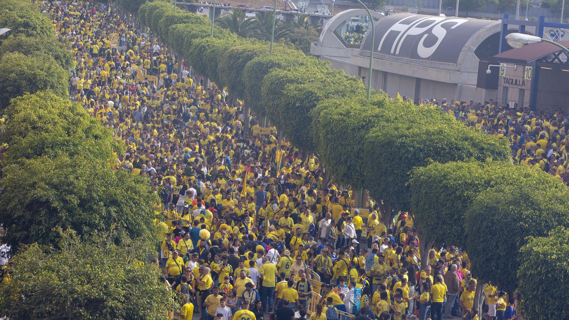
M 8 119 L 0 222 L 14 253 L 0 315 L 166 319 L 174 297 L 148 262 L 158 196 L 148 181 L 112 168 L 124 146 L 69 101 L 74 58 L 48 16 L 25 0 L 0 0 L 0 8 L 0 25 L 12 28 L 0 39 Z

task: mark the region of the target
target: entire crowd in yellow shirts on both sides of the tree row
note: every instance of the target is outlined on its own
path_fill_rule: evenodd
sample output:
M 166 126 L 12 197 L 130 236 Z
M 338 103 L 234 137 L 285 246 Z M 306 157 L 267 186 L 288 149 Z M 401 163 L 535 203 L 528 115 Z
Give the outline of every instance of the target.
M 279 320 L 345 313 L 478 319 L 467 252 L 442 245 L 422 257 L 412 216 L 385 221 L 373 199 L 361 205 L 363 214 L 349 186 L 323 179 L 315 154 L 303 157 L 274 127 L 246 134 L 259 121 L 246 119 L 244 102 L 196 78 L 131 17 L 86 1 L 46 1 L 43 10 L 75 52 L 71 99 L 126 144 L 112 166 L 149 178 L 160 195 L 157 260 L 161 281 L 183 295 L 179 319 L 194 312 L 203 320 L 263 320 L 266 313 Z M 514 161 L 566 178 L 569 125 L 559 110 L 416 102 L 508 136 Z M 516 297 L 496 284 L 483 288 L 488 320 L 523 319 Z M 307 310 L 316 294 L 321 299 Z

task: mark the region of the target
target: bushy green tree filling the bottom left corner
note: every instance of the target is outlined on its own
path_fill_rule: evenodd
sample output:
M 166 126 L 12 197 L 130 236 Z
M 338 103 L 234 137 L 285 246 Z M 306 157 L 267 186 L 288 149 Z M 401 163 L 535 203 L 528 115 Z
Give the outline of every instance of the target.
M 10 319 L 168 319 L 174 293 L 159 281 L 146 241 L 113 243 L 112 232 L 83 240 L 64 232 L 58 246 L 31 244 L 14 256 L 13 280 L 0 286 Z M 146 261 L 145 264 L 141 262 Z

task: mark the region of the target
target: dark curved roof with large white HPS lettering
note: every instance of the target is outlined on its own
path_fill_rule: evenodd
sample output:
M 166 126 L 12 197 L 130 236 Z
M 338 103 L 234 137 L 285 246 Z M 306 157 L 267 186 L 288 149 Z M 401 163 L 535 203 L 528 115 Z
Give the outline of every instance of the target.
M 474 46 L 471 48 L 474 51 L 478 44 L 500 30 L 499 24 L 495 20 L 392 14 L 376 23 L 374 57 L 458 69 L 464 51 L 469 46 Z M 369 56 L 370 34 L 364 39 L 361 55 Z

